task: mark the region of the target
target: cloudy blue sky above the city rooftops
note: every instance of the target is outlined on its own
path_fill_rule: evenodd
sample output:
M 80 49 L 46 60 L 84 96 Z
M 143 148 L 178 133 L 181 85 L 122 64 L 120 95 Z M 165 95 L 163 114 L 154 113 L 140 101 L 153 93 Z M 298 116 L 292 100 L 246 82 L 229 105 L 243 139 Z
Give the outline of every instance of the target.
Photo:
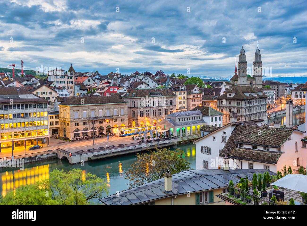
M 101 74 L 229 78 L 242 46 L 251 67 L 259 42 L 272 76 L 307 75 L 305 0 L 0 0 L 0 8 L 0 67 L 23 60 L 34 70 L 72 63 Z

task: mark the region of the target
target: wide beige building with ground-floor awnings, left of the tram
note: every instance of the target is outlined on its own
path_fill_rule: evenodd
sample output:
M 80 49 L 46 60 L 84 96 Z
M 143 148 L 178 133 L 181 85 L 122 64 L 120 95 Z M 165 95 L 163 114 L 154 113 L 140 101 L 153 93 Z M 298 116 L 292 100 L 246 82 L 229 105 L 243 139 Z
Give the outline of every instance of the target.
M 114 96 L 72 97 L 58 104 L 60 137 L 119 133 L 128 123 L 127 102 Z

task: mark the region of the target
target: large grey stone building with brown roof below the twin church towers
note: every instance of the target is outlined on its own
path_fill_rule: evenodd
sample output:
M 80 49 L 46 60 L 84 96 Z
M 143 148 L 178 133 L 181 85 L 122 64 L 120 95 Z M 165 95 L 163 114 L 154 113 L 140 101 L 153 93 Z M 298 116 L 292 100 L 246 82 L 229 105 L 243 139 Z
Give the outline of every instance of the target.
M 235 86 L 216 98 L 217 110 L 224 113 L 223 125 L 230 122 L 231 111 L 238 115 L 238 121 L 266 119 L 267 96 L 258 88 Z

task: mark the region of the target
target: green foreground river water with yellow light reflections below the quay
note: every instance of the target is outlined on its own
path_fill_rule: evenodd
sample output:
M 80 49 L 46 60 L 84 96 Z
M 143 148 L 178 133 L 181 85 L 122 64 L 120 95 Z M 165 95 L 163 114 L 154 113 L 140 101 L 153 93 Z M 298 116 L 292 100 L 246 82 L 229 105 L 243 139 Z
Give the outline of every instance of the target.
M 186 153 L 187 160 L 192 163 L 191 168 L 196 168 L 196 146 L 192 143 L 174 145 L 171 150 L 176 148 L 182 149 Z M 52 159 L 48 161 L 40 161 L 25 165 L 24 170 L 9 170 L 10 168 L 0 169 L 0 192 L 2 195 L 10 190 L 16 189 L 21 185 L 34 184 L 36 181 L 49 178 L 49 172 L 53 169 L 70 170 L 74 168 L 82 169 L 82 177 L 90 172 L 105 179 L 109 186 L 109 194 L 122 191 L 128 188 L 125 180 L 125 172 L 130 165 L 136 160 L 136 153 L 111 157 L 102 160 L 85 162 L 84 166 L 79 164 L 70 165 L 67 160 Z

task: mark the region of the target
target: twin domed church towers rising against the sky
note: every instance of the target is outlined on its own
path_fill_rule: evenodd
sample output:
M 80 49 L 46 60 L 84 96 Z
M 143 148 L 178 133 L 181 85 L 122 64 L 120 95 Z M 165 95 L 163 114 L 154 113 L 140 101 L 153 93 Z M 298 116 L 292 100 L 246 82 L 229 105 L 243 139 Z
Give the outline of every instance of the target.
M 242 46 L 238 61 L 238 72 L 237 65 L 235 65 L 235 75 L 230 80 L 231 83 L 235 85 L 250 85 L 252 87 L 262 88 L 262 61 L 258 45 L 255 52 L 255 61 L 253 63 L 253 76 L 247 74 L 245 50 Z

